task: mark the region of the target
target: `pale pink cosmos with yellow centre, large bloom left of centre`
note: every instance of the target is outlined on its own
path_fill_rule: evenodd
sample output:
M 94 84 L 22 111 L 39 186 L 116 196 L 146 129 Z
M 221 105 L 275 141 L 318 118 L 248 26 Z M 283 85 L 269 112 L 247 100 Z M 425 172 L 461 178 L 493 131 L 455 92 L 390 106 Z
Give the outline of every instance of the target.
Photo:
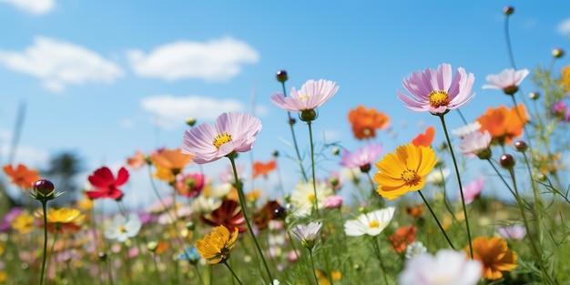
M 182 153 L 196 156 L 193 161 L 204 164 L 225 157 L 232 152 L 246 152 L 253 148 L 260 132 L 257 117 L 242 113 L 223 113 L 214 126 L 207 123 L 184 132 Z

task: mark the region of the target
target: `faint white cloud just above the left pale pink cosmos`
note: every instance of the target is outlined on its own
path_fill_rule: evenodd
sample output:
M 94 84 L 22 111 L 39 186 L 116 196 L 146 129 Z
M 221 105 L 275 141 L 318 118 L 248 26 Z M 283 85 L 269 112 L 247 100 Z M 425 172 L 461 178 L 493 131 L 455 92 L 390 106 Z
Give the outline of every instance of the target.
M 154 114 L 155 123 L 160 127 L 183 126 L 188 117 L 196 117 L 198 123 L 215 119 L 223 112 L 240 112 L 245 105 L 235 99 L 215 99 L 211 97 L 174 97 L 163 95 L 143 98 L 143 109 Z

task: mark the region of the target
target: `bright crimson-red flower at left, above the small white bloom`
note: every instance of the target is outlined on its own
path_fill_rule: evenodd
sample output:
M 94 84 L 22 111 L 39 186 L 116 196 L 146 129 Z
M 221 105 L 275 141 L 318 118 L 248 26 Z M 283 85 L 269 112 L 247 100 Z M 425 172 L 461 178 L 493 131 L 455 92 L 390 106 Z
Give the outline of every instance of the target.
M 87 197 L 91 199 L 114 198 L 118 200 L 123 197 L 123 191 L 119 187 L 127 183 L 128 171 L 126 168 L 118 169 L 117 178 L 115 178 L 109 168 L 103 167 L 95 170 L 95 173 L 90 175 L 88 179 L 96 189 L 86 191 Z

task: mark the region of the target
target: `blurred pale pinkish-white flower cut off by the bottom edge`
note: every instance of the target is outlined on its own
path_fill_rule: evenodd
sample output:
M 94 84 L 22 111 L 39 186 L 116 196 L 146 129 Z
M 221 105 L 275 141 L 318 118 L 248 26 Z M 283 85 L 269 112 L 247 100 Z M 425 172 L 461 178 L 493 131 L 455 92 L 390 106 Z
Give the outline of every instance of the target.
M 475 285 L 483 265 L 463 251 L 441 249 L 435 256 L 423 253 L 410 260 L 400 274 L 400 285 Z

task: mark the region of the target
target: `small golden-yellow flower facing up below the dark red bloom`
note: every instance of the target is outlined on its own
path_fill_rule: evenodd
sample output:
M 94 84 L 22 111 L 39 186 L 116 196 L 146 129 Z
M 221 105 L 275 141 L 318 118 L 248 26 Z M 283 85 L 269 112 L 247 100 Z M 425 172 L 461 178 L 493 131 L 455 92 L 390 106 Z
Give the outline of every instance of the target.
M 230 234 L 229 229 L 221 225 L 214 229 L 211 234 L 206 235 L 204 239 L 196 241 L 196 249 L 202 258 L 208 260 L 209 264 L 217 264 L 229 258 L 229 253 L 234 249 L 238 234 L 238 228 L 235 228 L 234 233 Z

